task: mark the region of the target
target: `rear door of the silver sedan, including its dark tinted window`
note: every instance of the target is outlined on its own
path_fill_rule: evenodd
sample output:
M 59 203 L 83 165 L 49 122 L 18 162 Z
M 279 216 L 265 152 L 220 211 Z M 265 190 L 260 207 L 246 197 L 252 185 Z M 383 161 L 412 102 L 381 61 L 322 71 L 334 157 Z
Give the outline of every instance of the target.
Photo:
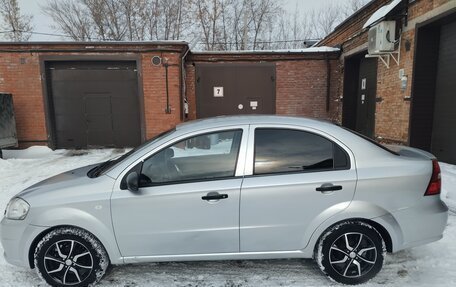
M 297 251 L 346 208 L 356 171 L 349 149 L 321 131 L 252 126 L 241 189 L 241 252 Z

